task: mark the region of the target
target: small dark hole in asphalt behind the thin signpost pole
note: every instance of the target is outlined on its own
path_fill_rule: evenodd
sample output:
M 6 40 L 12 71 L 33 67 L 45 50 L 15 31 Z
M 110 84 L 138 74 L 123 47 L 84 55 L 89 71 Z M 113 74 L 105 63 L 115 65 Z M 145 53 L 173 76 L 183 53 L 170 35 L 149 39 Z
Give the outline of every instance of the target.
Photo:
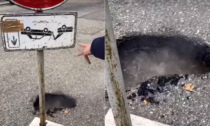
M 35 113 L 39 112 L 39 96 L 36 96 L 36 100 L 33 104 Z M 53 114 L 57 111 L 62 111 L 66 108 L 75 108 L 76 99 L 66 96 L 64 94 L 45 94 L 45 111 L 46 114 L 53 117 Z

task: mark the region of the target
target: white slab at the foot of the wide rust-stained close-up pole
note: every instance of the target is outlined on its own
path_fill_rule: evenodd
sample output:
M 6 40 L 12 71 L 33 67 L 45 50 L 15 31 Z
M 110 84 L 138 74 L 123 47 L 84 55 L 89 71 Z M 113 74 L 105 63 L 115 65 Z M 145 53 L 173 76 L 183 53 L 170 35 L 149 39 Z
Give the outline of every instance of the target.
M 150 119 L 146 119 L 132 114 L 131 114 L 131 121 L 133 126 L 169 126 L 163 123 L 152 121 Z M 105 126 L 115 126 L 114 116 L 111 109 L 109 109 L 109 111 L 105 116 Z

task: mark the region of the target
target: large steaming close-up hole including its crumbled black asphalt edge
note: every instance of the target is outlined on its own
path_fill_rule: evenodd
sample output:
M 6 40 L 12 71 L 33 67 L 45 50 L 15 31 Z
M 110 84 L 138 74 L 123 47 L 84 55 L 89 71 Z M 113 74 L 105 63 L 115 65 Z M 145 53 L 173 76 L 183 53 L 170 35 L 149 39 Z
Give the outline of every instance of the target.
M 210 70 L 210 47 L 197 38 L 140 35 L 117 42 L 127 91 L 141 85 L 127 97 L 132 101 L 141 96 L 142 101 L 167 102 L 157 96 L 167 95 L 171 86 L 177 86 L 180 79 L 187 80 L 188 75 Z

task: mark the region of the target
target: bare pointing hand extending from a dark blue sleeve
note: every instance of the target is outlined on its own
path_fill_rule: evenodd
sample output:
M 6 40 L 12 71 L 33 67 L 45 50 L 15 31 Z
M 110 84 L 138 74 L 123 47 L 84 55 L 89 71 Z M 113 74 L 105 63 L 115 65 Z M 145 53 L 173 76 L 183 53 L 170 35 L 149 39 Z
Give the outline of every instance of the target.
M 91 64 L 89 55 L 91 55 L 91 45 L 90 44 L 79 44 L 83 49 L 82 51 L 78 54 L 78 56 L 84 56 L 85 60 L 87 61 L 88 64 Z

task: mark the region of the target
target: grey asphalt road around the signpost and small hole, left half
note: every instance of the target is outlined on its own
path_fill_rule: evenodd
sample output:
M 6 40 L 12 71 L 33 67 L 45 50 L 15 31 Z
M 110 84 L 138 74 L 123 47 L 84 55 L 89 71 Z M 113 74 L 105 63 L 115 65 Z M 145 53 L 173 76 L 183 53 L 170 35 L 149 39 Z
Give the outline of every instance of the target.
M 76 48 L 45 51 L 47 93 L 62 93 L 77 100 L 68 113 L 59 111 L 47 120 L 65 126 L 104 124 L 104 63 L 90 56 L 88 65 L 77 57 L 79 43 L 91 43 L 104 35 L 104 3 L 101 0 L 68 1 L 46 12 L 77 11 Z M 15 5 L 0 7 L 0 13 L 32 12 Z M 0 125 L 27 126 L 38 115 L 33 102 L 38 94 L 37 54 L 35 51 L 4 52 L 0 40 Z

